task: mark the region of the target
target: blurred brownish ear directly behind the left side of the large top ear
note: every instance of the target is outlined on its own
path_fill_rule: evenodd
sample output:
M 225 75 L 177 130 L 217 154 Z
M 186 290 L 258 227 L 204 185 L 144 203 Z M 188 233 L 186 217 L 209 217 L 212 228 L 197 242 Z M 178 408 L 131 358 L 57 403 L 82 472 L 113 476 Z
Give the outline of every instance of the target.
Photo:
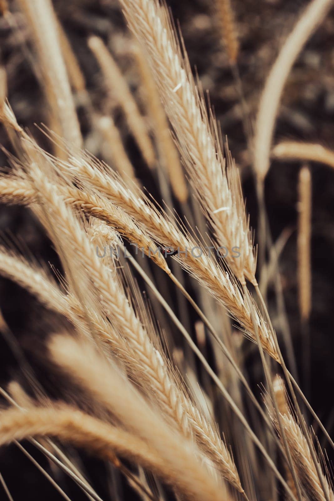
M 156 84 L 145 60 L 145 54 L 143 54 L 143 51 L 138 45 L 134 47 L 134 55 L 137 60 L 144 88 L 146 105 L 154 126 L 153 132 L 158 145 L 159 160 L 168 170 L 169 181 L 174 195 L 180 203 L 185 203 L 188 198 L 187 183 L 178 151 L 171 137 L 171 131 L 169 130 L 166 114 L 162 107 Z

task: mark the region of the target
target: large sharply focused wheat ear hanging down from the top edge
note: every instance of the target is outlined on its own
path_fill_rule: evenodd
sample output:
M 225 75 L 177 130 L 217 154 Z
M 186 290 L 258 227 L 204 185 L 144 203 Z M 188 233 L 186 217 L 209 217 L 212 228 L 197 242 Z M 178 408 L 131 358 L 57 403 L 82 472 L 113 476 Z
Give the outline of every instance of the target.
M 145 51 L 160 98 L 175 131 L 182 160 L 215 238 L 231 252 L 226 261 L 242 282 L 255 282 L 256 260 L 239 182 L 232 182 L 220 134 L 208 115 L 165 7 L 156 0 L 121 0 L 130 29 Z M 235 170 L 233 177 L 238 177 Z M 235 257 L 232 247 L 238 247 Z

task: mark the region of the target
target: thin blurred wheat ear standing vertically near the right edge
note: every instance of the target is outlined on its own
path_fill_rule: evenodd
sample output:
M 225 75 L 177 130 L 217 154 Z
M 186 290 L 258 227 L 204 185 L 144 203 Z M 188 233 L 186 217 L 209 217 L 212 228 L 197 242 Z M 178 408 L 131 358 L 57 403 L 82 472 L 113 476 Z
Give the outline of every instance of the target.
M 298 184 L 298 291 L 302 321 L 311 311 L 311 203 L 312 179 L 308 167 L 302 167 Z

